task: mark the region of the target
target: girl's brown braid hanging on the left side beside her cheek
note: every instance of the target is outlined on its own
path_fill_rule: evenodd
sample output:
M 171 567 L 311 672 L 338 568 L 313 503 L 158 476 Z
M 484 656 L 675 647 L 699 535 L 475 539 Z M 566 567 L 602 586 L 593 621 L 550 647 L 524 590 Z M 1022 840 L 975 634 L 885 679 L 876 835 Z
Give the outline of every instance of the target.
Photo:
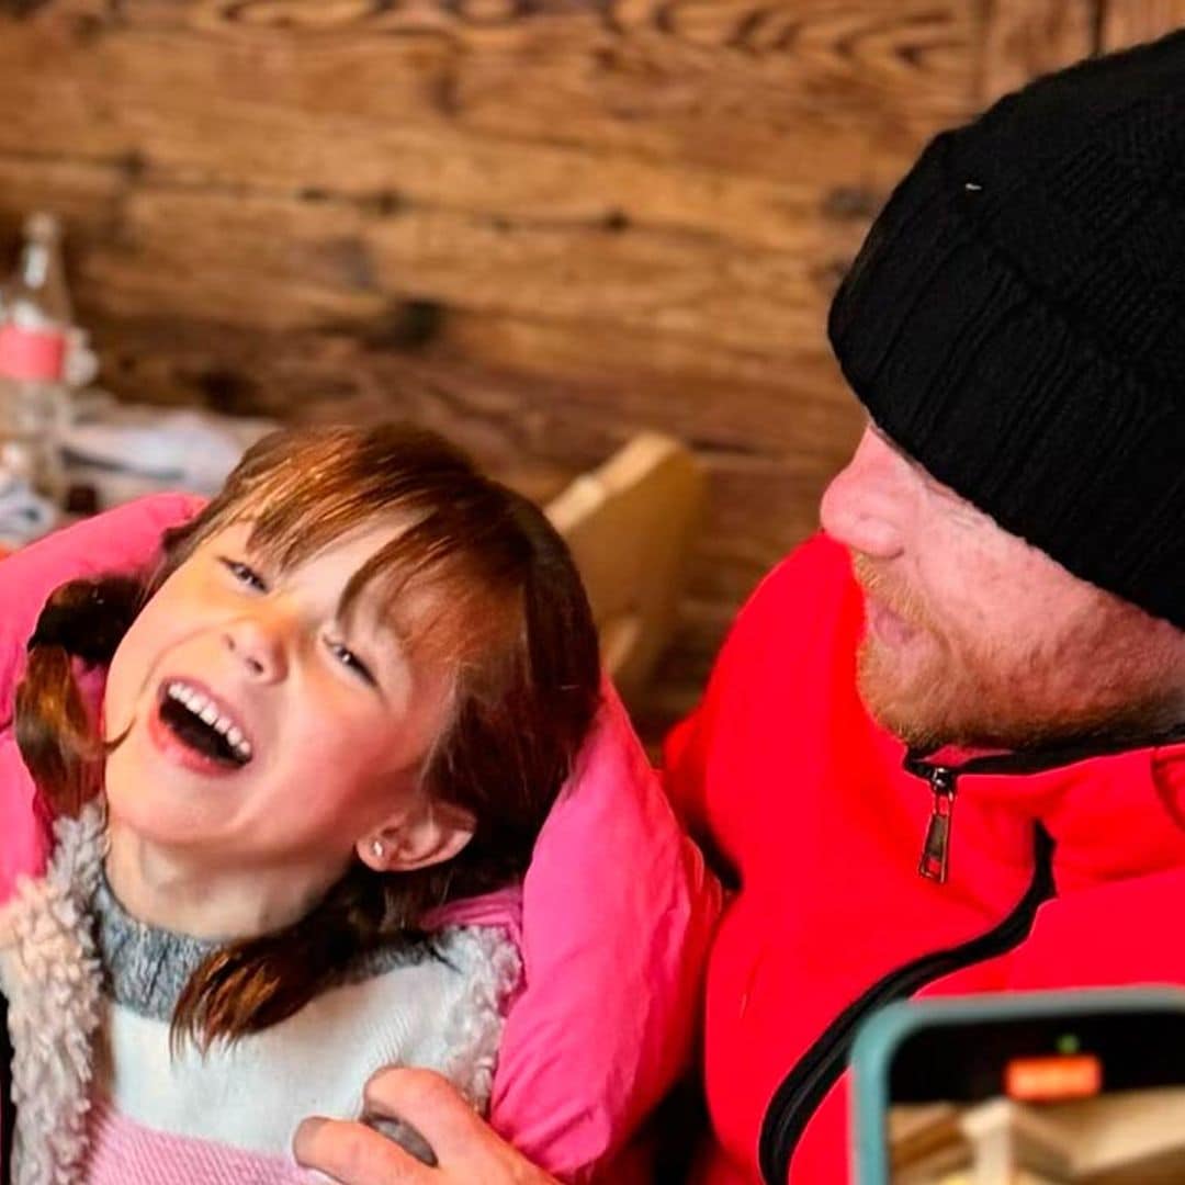
M 73 660 L 110 662 L 142 596 L 143 585 L 126 576 L 71 581 L 55 590 L 37 619 L 17 687 L 15 732 L 53 814 L 77 814 L 100 786 L 102 741 L 75 681 Z

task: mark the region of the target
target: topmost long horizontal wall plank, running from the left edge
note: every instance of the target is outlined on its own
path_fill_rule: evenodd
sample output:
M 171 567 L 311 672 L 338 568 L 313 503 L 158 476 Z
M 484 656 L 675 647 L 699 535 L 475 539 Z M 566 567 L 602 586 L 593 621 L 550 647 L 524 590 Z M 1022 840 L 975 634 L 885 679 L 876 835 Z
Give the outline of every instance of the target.
M 613 190 L 616 171 L 597 184 L 574 149 L 780 184 L 801 180 L 809 161 L 816 185 L 879 190 L 969 101 L 971 25 L 954 0 L 854 13 L 812 0 L 776 37 L 756 4 L 655 5 L 616 31 L 594 6 L 532 6 L 497 28 L 450 18 L 448 4 L 370 20 L 337 6 L 338 24 L 310 28 L 300 23 L 310 7 L 158 0 L 100 18 L 92 4 L 58 0 L 6 21 L 0 147 L 393 201 L 444 200 L 444 190 L 461 203 L 501 194 L 505 206 L 536 175 L 579 194 L 550 181 L 574 167 L 594 194 L 647 192 Z M 269 12 L 270 25 L 255 23 Z M 412 36 L 425 13 L 435 32 Z M 55 69 L 30 69 L 39 60 Z M 539 160 L 507 167 L 499 149 L 527 145 Z

